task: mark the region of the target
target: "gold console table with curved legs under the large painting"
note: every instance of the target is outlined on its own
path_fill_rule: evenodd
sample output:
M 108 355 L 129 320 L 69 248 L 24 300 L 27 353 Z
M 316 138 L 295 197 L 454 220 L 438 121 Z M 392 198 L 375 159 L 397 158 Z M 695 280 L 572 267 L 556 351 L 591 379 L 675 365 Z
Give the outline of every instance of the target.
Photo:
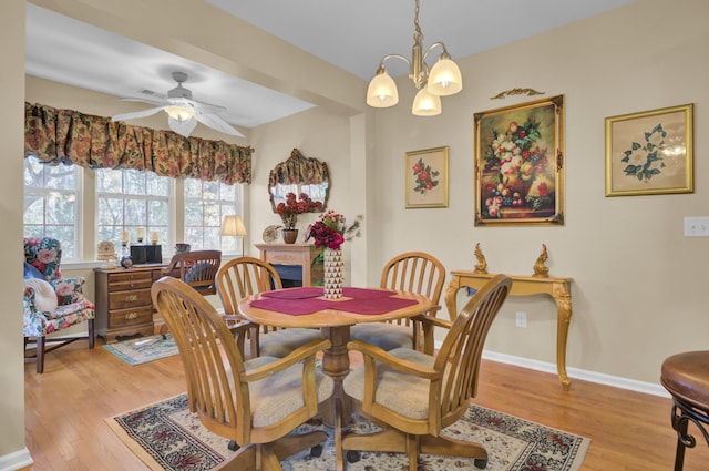
M 477 272 L 452 272 L 445 290 L 445 306 L 451 314 L 458 314 L 455 295 L 464 287 L 480 289 L 494 275 Z M 572 381 L 566 375 L 566 339 L 568 324 L 572 319 L 572 278 L 553 278 L 542 276 L 510 276 L 512 291 L 510 296 L 548 295 L 556 303 L 556 370 L 564 390 L 568 390 Z

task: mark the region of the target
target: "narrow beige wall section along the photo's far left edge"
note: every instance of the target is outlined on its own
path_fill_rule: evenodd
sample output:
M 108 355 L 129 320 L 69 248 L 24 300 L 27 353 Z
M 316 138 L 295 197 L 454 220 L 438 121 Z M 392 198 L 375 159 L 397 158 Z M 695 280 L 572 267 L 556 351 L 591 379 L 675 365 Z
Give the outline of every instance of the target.
M 22 264 L 22 155 L 24 103 L 24 1 L 3 2 L 0 16 L 0 260 Z M 24 448 L 24 365 L 22 360 L 22 280 L 3 276 L 0 284 L 0 469 L 28 464 Z

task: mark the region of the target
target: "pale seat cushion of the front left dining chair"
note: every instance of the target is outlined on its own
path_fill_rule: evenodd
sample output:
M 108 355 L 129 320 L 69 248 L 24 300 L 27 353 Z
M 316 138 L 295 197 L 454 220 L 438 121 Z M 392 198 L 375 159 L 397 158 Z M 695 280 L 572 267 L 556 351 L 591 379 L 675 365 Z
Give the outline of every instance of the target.
M 277 361 L 275 357 L 257 357 L 244 362 L 246 370 Z M 335 381 L 321 371 L 315 372 L 318 403 L 325 401 L 335 388 Z M 304 406 L 302 364 L 249 383 L 254 427 L 267 427 L 285 419 Z

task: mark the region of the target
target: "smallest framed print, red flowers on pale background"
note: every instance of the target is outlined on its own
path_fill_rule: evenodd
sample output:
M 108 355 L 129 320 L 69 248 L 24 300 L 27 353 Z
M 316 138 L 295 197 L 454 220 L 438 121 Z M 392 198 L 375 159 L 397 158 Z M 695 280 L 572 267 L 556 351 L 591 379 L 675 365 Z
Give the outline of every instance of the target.
M 448 207 L 448 146 L 407 152 L 407 209 Z

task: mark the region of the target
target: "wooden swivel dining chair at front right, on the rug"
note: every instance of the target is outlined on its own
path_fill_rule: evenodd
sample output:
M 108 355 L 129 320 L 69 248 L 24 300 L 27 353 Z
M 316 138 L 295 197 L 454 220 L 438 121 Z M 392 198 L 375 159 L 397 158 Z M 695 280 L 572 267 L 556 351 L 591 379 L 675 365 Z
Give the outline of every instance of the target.
M 441 430 L 460 420 L 475 397 L 480 359 L 490 326 L 504 303 L 512 280 L 496 275 L 481 288 L 454 321 L 427 318 L 450 327 L 435 356 L 397 348 L 389 352 L 371 344 L 352 340 L 348 349 L 363 355 L 363 365 L 343 380 L 345 392 L 361 403 L 362 413 L 384 430 L 348 434 L 336 442 L 338 464 L 342 450 L 401 452 L 415 471 L 419 453 L 465 457 L 477 468 L 487 464 L 487 451 Z M 354 461 L 357 453 L 348 452 Z

